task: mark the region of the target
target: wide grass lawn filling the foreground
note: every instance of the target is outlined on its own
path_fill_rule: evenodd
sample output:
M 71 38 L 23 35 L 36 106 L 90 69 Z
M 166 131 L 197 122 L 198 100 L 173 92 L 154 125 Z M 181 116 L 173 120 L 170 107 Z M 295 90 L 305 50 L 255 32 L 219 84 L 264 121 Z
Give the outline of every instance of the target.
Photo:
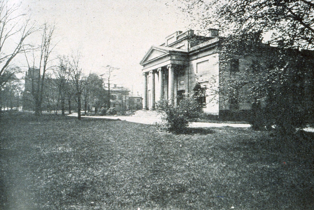
M 3 114 L 0 209 L 314 209 L 312 136 L 194 131 Z

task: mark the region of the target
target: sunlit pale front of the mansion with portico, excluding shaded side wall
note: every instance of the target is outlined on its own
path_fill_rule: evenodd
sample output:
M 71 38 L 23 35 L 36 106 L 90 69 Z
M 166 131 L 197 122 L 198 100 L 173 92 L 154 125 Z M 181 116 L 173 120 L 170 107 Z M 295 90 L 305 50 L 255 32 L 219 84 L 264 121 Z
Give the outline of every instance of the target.
M 165 38 L 165 43 L 150 47 L 140 62 L 144 79 L 143 110 L 154 110 L 155 102 L 161 98 L 171 104 L 179 103 L 195 87 L 195 75 L 205 82 L 219 75 L 217 35 L 216 30 L 209 36 L 194 35 L 193 30 L 176 31 Z M 218 101 L 209 98 L 206 101 L 204 112 L 218 115 L 222 108 Z

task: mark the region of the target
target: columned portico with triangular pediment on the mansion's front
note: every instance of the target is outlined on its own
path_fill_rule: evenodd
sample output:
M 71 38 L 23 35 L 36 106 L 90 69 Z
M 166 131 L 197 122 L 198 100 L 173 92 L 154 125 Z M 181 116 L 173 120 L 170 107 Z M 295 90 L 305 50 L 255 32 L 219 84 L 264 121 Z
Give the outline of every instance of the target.
M 156 101 L 176 100 L 176 75 L 187 66 L 187 50 L 152 46 L 140 62 L 143 66 L 143 110 L 155 110 Z

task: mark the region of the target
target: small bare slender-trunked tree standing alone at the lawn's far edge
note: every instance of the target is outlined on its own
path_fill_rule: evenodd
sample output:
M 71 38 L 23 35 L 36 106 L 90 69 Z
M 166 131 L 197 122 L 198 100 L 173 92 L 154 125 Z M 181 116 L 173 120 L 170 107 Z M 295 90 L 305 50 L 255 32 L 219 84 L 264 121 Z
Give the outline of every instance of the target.
M 81 120 L 81 95 L 84 87 L 88 83 L 88 78 L 85 77 L 82 68 L 80 67 L 81 54 L 78 52 L 77 55 L 72 55 L 72 61 L 69 63 L 68 74 L 70 78 L 70 84 L 75 90 L 77 96 L 77 112 L 78 120 Z

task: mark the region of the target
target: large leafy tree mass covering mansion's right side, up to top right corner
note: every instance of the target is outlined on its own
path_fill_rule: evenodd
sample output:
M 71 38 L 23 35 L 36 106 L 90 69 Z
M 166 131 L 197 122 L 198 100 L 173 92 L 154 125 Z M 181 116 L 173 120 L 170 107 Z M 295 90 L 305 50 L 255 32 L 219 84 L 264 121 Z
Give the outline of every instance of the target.
M 312 1 L 172 2 L 203 33 L 219 29 L 219 88 L 214 93 L 219 94 L 220 102 L 250 101 L 255 128 L 275 126 L 291 136 L 296 128 L 305 126 L 308 119 L 301 116 L 313 110 L 313 100 L 300 97 L 311 95 L 313 88 L 313 54 L 306 51 L 314 40 Z M 268 43 L 263 41 L 266 35 Z M 239 69 L 246 60 L 251 65 Z M 207 88 L 214 84 L 209 81 Z

